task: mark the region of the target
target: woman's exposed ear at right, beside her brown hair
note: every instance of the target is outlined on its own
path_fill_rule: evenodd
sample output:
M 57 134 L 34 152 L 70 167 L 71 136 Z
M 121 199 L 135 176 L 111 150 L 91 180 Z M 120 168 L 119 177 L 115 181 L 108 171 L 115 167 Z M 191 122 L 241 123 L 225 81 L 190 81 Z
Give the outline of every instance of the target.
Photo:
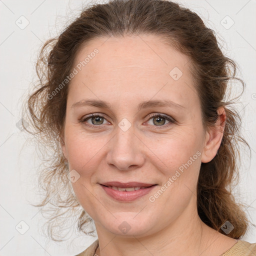
M 226 120 L 226 112 L 224 107 L 219 107 L 217 113 L 218 119 L 216 120 L 214 126 L 209 126 L 208 130 L 206 131 L 201 162 L 209 162 L 214 158 L 223 137 Z

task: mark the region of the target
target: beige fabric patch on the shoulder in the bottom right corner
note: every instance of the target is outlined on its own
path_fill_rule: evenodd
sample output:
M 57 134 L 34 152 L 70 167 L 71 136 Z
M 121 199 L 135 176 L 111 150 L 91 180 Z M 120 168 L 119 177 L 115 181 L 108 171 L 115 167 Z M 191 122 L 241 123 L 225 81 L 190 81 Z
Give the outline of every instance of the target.
M 221 256 L 255 256 L 256 243 L 249 243 L 244 240 L 238 240 L 230 249 L 221 254 Z

